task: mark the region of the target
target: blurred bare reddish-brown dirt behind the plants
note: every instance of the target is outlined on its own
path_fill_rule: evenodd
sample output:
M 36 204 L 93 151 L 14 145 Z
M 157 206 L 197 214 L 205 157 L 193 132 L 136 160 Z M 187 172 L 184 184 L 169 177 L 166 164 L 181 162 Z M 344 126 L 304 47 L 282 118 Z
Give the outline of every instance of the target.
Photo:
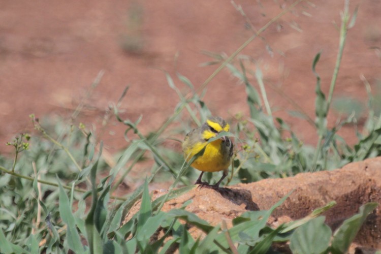
M 315 54 L 322 51 L 317 71 L 328 92 L 338 48 L 344 1 L 299 4 L 271 25 L 242 52 L 252 56 L 264 73 L 271 106 L 306 142 L 315 142 L 313 128 L 287 113 L 293 109 L 275 86 L 314 118 Z M 230 55 L 290 1 L 0 1 L 0 151 L 14 135 L 30 131 L 28 115 L 59 114 L 69 119 L 92 81 L 104 71 L 99 86 L 85 100 L 79 120 L 100 124 L 110 103 L 130 85 L 123 101 L 124 117 L 140 114 L 143 132 L 154 130 L 173 111 L 178 97 L 161 70 L 188 77 L 199 87 L 217 68 L 200 67 L 211 60 L 201 51 Z M 360 75 L 372 87 L 380 82 L 381 2 L 352 1 L 359 7 L 347 44 L 335 95 L 365 99 Z M 273 54 L 266 50 L 270 46 Z M 160 70 L 161 69 L 161 70 Z M 185 86 L 175 79 L 186 91 Z M 252 83 L 256 85 L 255 80 Z M 271 86 L 272 85 L 272 86 Z M 208 85 L 205 102 L 215 115 L 226 118 L 247 112 L 244 86 L 226 70 Z M 337 115 L 330 114 L 331 124 Z M 110 120 L 102 139 L 115 151 L 125 145 L 124 126 Z M 89 126 L 91 128 L 91 125 Z M 354 131 L 341 134 L 353 140 Z

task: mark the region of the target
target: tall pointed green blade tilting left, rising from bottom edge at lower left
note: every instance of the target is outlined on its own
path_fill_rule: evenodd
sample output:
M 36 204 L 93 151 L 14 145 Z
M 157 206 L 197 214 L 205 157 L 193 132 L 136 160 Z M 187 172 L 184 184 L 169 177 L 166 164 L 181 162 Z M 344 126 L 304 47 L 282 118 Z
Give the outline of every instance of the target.
M 65 190 L 63 189 L 62 184 L 58 179 L 58 176 L 57 181 L 59 186 L 59 214 L 62 218 L 62 221 L 67 225 L 67 241 L 69 248 L 75 253 L 83 252 L 81 238 L 79 237 L 76 228 L 75 218 L 72 213 L 72 207 L 70 205 L 69 198 L 66 195 Z

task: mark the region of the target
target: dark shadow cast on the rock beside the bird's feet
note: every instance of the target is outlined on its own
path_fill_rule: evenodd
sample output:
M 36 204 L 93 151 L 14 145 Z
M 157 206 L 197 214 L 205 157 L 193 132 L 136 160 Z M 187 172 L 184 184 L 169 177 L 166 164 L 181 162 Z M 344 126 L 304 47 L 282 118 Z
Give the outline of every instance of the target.
M 260 210 L 258 205 L 252 201 L 251 193 L 247 189 L 230 189 L 225 187 L 219 187 L 215 188 L 214 190 L 236 205 L 245 204 L 246 210 Z

